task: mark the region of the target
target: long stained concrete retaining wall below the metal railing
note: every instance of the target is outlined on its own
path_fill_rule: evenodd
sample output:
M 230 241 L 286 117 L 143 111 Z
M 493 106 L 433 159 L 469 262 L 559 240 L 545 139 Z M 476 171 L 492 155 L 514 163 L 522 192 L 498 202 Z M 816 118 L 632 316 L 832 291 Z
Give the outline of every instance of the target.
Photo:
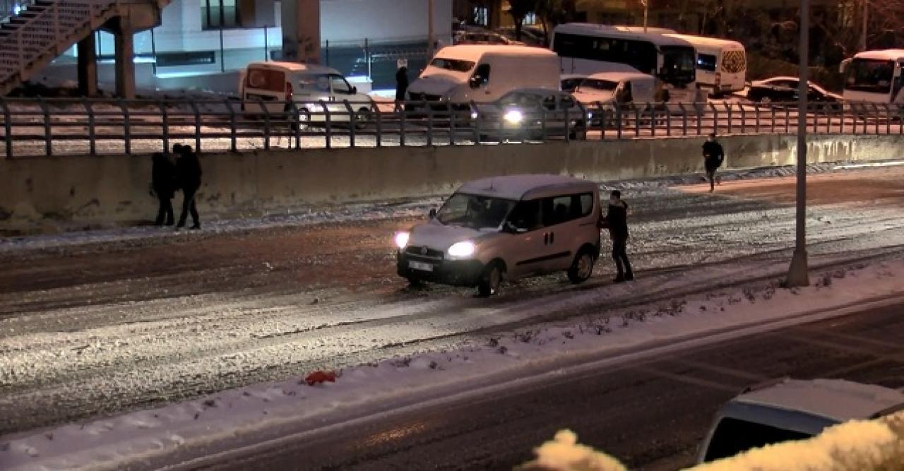
M 723 137 L 727 166 L 796 162 L 794 136 Z M 596 181 L 702 172 L 702 138 L 543 145 L 301 149 L 202 155 L 202 219 L 449 193 L 497 174 L 572 174 Z M 900 155 L 900 136 L 819 136 L 810 162 Z M 0 231 L 68 231 L 150 221 L 149 156 L 0 159 Z M 174 203 L 181 202 L 177 194 Z

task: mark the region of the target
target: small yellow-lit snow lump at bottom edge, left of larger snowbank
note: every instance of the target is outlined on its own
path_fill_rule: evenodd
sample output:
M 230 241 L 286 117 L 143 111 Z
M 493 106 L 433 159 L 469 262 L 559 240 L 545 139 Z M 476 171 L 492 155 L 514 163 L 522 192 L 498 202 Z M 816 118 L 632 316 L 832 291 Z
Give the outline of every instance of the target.
M 561 430 L 552 441 L 534 450 L 537 459 L 516 469 L 519 471 L 627 471 L 613 457 L 580 445 L 571 430 Z

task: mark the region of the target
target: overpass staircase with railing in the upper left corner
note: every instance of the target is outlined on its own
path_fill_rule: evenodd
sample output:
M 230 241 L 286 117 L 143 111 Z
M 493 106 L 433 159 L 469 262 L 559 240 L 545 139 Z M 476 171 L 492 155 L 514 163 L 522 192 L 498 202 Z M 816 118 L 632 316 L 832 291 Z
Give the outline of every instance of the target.
M 0 96 L 76 43 L 137 5 L 159 12 L 170 0 L 20 0 L 0 2 Z M 157 16 L 159 17 L 159 16 Z

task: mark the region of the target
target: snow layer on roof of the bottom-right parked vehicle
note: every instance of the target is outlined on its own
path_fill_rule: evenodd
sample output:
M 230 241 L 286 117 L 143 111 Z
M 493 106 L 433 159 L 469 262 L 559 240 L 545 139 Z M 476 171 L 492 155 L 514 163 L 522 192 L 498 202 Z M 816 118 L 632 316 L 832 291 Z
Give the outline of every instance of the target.
M 869 419 L 880 410 L 904 405 L 904 392 L 843 380 L 785 380 L 775 386 L 741 394 L 732 402 L 799 410 L 844 422 Z

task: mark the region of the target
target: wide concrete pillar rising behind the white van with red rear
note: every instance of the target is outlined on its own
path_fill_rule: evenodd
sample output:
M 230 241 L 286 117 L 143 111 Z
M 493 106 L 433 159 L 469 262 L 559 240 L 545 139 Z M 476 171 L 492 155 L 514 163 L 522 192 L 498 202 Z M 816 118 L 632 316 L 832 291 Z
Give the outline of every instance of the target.
M 320 0 L 283 0 L 283 60 L 320 63 Z

